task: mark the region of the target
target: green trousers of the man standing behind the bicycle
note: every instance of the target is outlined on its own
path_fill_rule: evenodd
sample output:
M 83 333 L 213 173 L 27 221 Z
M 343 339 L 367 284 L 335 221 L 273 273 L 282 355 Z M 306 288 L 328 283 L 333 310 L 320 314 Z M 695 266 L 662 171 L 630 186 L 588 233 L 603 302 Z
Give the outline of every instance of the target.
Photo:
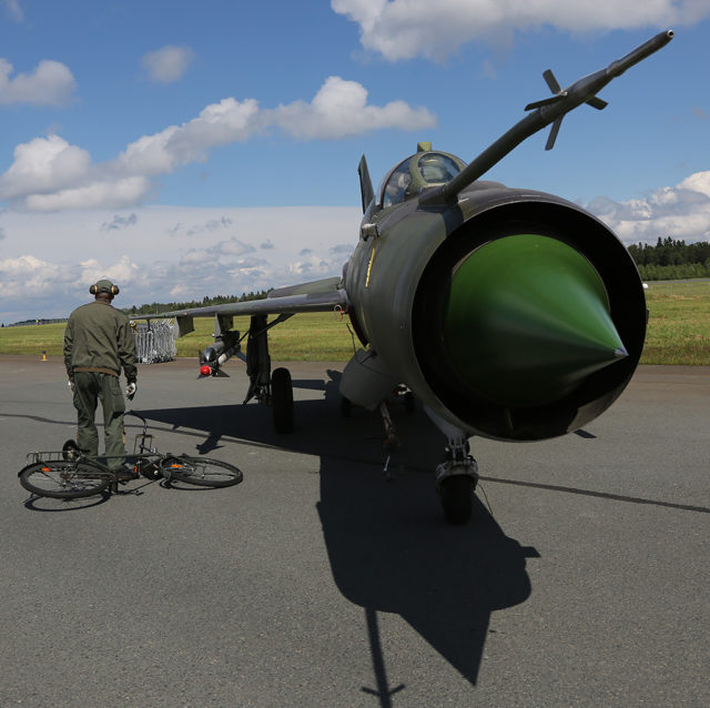
M 103 434 L 108 466 L 119 469 L 125 462 L 123 413 L 125 402 L 118 376 L 98 372 L 74 373 L 74 408 L 77 408 L 77 445 L 99 455 L 99 433 L 94 423 L 97 403 L 103 407 Z

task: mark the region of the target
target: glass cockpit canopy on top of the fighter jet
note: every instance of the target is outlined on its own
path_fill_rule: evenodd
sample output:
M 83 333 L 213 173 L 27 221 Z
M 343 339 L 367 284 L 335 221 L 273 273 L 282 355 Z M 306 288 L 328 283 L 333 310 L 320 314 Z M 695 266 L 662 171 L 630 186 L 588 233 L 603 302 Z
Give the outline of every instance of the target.
M 399 204 L 427 186 L 453 180 L 466 163 L 446 152 L 434 152 L 429 143 L 419 143 L 417 153 L 403 160 L 385 176 L 379 188 L 383 208 Z

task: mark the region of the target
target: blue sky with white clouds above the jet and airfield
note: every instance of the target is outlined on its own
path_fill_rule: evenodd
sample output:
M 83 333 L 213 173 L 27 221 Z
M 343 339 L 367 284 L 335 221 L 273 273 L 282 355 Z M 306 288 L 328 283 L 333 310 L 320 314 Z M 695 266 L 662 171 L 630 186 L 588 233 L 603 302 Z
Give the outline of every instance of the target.
M 627 7 L 628 6 L 628 7 Z M 356 165 L 473 159 L 546 98 L 672 28 L 487 176 L 627 242 L 710 234 L 710 0 L 0 0 L 0 321 L 339 273 Z

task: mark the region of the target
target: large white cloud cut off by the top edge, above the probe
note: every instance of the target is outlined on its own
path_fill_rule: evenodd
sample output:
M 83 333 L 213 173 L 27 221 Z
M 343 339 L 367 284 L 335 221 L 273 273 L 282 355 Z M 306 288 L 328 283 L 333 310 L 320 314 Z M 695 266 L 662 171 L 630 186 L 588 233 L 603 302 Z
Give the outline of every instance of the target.
M 389 61 L 417 55 L 440 61 L 471 40 L 544 24 L 570 32 L 663 29 L 710 14 L 706 0 L 332 0 L 331 7 L 359 24 L 366 50 Z

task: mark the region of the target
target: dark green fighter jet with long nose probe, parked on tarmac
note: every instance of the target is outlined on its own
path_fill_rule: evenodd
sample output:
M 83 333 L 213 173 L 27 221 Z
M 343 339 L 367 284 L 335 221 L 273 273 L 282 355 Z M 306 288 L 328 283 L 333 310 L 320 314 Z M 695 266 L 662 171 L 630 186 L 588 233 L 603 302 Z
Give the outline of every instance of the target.
M 387 401 L 418 398 L 447 438 L 435 471 L 444 515 L 465 524 L 478 481 L 469 438 L 539 441 L 596 418 L 629 383 L 648 318 L 636 265 L 609 227 L 559 196 L 480 178 L 550 124 L 551 149 L 569 111 L 606 108 L 598 91 L 672 37 L 657 34 L 565 90 L 546 71 L 554 95 L 529 103 L 469 164 L 419 143 L 375 191 L 363 156 L 364 215 L 342 275 L 161 316 L 175 317 L 180 335 L 194 317 L 214 316 L 202 376 L 224 375 L 246 338 L 246 401 L 270 405 L 286 433 L 291 375 L 271 370 L 268 332 L 297 313 L 341 309 L 361 344 L 341 378 L 344 407 L 379 408 L 393 436 Z M 243 335 L 234 315 L 251 316 Z

